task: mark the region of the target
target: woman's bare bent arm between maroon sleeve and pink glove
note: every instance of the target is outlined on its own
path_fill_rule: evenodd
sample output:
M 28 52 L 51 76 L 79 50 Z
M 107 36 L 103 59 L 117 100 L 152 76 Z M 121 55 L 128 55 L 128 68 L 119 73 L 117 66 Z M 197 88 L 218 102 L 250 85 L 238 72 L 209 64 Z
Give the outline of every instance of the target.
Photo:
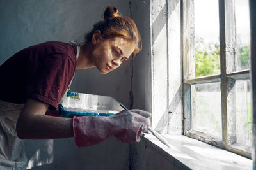
M 20 113 L 16 130 L 20 139 L 58 139 L 73 136 L 72 118 L 45 115 L 48 104 L 28 99 Z

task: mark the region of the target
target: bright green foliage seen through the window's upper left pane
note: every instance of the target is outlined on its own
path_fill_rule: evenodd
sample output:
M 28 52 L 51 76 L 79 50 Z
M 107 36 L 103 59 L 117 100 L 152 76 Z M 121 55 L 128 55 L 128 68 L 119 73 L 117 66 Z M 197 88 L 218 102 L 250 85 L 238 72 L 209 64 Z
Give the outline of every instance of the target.
M 195 77 L 220 74 L 220 45 L 200 38 L 195 42 Z

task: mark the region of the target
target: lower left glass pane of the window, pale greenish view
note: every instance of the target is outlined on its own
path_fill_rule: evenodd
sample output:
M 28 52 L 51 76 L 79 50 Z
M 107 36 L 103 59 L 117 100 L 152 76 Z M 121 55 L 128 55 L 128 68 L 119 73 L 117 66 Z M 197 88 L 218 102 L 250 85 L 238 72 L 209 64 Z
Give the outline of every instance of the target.
M 221 139 L 220 83 L 191 85 L 191 106 L 192 129 Z

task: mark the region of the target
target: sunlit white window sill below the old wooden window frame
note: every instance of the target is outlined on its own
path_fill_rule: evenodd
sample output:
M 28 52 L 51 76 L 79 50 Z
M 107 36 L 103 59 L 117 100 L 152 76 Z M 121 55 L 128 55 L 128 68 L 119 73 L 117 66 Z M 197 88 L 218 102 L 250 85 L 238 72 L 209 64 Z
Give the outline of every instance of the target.
M 171 148 L 152 134 L 145 143 L 178 169 L 252 169 L 252 160 L 183 135 L 164 135 Z M 181 164 L 180 164 L 181 163 Z M 185 167 L 186 166 L 186 167 Z

